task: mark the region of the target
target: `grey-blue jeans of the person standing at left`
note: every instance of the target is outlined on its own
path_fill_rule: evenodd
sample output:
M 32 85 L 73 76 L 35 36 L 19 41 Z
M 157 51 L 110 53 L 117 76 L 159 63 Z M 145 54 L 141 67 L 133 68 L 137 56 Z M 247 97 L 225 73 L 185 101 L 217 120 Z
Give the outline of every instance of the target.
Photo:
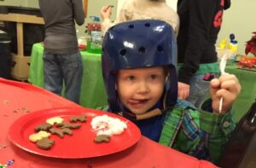
M 83 78 L 83 63 L 80 52 L 71 55 L 54 55 L 44 52 L 44 88 L 59 96 L 63 82 L 65 96 L 79 104 Z

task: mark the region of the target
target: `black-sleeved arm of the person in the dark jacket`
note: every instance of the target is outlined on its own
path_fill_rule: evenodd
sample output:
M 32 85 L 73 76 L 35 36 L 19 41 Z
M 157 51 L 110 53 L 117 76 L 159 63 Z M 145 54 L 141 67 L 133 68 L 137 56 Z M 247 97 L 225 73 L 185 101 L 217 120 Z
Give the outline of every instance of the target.
M 189 3 L 189 40 L 185 51 L 183 67 L 178 72 L 178 81 L 189 84 L 198 70 L 207 36 L 216 13 L 216 0 L 193 0 Z

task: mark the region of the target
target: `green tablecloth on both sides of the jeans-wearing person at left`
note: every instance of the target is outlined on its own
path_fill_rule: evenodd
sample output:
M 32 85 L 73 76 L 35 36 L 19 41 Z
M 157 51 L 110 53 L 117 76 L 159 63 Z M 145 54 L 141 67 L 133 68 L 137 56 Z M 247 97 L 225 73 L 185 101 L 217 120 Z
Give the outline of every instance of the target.
M 44 45 L 35 43 L 32 46 L 28 81 L 44 87 L 43 66 Z M 107 104 L 107 95 L 102 79 L 102 56 L 81 51 L 84 74 L 81 88 L 80 105 L 84 107 L 101 107 Z

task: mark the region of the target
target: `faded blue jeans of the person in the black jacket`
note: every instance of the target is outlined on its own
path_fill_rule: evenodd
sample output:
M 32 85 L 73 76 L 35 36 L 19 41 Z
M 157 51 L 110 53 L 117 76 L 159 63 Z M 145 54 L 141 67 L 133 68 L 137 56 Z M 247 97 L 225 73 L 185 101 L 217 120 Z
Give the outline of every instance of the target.
M 190 78 L 189 97 L 186 100 L 194 104 L 195 107 L 200 107 L 209 93 L 210 81 L 204 80 L 204 76 L 205 74 L 194 75 Z

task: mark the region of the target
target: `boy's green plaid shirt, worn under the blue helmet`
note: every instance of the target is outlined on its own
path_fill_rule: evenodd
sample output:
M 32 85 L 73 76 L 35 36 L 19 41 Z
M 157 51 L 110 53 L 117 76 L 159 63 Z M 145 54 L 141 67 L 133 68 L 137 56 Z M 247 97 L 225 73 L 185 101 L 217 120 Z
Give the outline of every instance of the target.
M 224 149 L 236 124 L 233 111 L 225 114 L 196 110 L 188 101 L 178 100 L 166 113 L 160 143 L 198 159 L 213 163 Z

